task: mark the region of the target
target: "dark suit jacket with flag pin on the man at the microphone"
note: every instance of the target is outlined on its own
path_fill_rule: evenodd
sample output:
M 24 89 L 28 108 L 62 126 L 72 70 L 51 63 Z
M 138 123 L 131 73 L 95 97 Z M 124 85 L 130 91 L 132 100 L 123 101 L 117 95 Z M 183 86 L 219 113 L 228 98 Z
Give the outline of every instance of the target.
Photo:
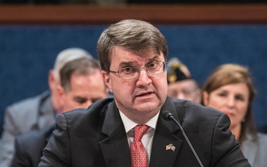
M 228 129 L 230 120 L 226 114 L 169 97 L 160 110 L 163 111 L 170 111 L 180 121 L 204 166 L 250 166 Z M 168 144 L 176 147 L 174 152 L 166 151 Z M 130 167 L 129 145 L 115 101 L 108 98 L 88 109 L 59 115 L 39 166 Z M 199 166 L 180 129 L 161 115 L 149 166 Z

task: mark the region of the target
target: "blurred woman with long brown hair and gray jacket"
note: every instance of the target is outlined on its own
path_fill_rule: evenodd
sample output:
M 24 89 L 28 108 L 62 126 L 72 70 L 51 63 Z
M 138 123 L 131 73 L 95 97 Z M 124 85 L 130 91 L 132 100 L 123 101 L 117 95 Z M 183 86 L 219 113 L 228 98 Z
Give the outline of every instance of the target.
M 203 87 L 203 105 L 224 112 L 229 129 L 241 144 L 252 167 L 266 167 L 267 135 L 258 133 L 252 116 L 255 89 L 247 68 L 224 64 L 215 69 Z

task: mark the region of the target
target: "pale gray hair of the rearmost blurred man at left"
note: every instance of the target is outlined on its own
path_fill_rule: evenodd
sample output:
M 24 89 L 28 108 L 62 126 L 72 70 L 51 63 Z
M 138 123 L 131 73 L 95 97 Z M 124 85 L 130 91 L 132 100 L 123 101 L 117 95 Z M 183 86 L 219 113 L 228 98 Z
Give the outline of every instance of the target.
M 80 59 L 80 58 L 92 58 L 92 55 L 89 54 L 86 50 L 81 48 L 68 48 L 63 51 L 61 51 L 56 60 L 54 65 L 54 78 L 55 80 L 59 80 L 59 73 L 65 64 L 68 62 Z

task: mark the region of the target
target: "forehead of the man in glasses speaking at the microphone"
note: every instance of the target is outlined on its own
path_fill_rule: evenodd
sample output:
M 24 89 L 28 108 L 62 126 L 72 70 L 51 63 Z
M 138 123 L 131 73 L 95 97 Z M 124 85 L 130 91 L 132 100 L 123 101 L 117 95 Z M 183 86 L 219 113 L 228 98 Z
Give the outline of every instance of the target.
M 156 54 L 154 52 L 148 52 L 145 55 L 137 55 L 134 53 L 134 51 L 126 49 L 121 46 L 114 46 L 112 49 L 112 54 L 111 54 L 111 66 L 113 65 L 133 65 L 133 64 L 138 64 L 141 62 L 151 62 L 151 61 L 164 61 L 164 56 L 161 53 Z

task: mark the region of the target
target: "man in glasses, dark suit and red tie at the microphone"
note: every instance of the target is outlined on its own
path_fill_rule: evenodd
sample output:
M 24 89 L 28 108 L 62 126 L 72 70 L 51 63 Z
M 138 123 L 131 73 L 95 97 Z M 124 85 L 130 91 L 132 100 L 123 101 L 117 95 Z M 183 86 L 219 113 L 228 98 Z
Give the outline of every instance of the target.
M 167 46 L 156 27 L 138 20 L 109 26 L 97 50 L 102 78 L 114 98 L 63 113 L 39 166 L 199 166 L 178 120 L 204 166 L 249 167 L 228 129 L 227 115 L 167 97 Z

